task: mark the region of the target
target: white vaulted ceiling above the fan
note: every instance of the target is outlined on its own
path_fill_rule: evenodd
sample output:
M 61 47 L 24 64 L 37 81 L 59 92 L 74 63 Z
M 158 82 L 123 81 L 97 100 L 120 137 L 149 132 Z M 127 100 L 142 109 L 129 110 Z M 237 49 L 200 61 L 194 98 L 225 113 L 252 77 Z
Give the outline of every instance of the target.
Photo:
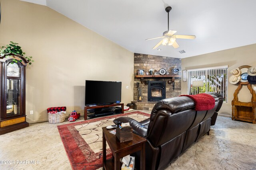
M 134 53 L 186 58 L 256 43 L 256 0 L 24 0 L 46 5 Z M 196 39 L 160 45 L 170 29 Z M 180 54 L 178 51 L 185 50 Z

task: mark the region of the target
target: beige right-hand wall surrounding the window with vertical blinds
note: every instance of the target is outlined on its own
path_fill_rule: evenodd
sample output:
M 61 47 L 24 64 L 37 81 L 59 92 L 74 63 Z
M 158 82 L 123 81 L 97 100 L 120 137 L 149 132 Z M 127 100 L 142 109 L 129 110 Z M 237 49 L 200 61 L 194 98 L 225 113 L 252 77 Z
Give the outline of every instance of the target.
M 255 55 L 256 44 L 253 44 L 182 59 L 181 65 L 182 70 L 228 65 L 228 77 L 230 77 L 230 70 L 234 68 L 242 65 L 256 66 Z M 182 82 L 181 94 L 187 94 L 187 83 L 188 82 Z M 233 94 L 237 87 L 237 85 L 233 85 L 228 82 L 228 102 L 222 105 L 222 108 L 219 111 L 220 115 L 228 117 L 232 115 L 231 101 L 233 100 Z M 243 86 L 238 95 L 238 99 L 241 102 L 250 102 L 251 97 L 252 96 L 248 88 Z

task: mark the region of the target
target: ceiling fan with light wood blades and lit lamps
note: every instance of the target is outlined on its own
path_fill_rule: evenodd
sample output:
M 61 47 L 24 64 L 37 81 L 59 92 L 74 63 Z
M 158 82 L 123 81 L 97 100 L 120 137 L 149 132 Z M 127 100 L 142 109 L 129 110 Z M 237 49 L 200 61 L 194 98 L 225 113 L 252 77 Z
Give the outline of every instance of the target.
M 180 39 L 195 39 L 196 38 L 195 35 L 174 35 L 177 31 L 169 30 L 169 12 L 170 12 L 170 10 L 172 10 L 172 7 L 170 7 L 170 6 L 165 8 L 165 11 L 168 13 L 168 31 L 164 31 L 162 37 L 146 39 L 146 41 L 148 41 L 148 40 L 152 40 L 152 39 L 162 38 L 162 40 L 157 45 L 155 45 L 152 49 L 156 49 L 161 44 L 162 45 L 166 45 L 166 44 L 172 45 L 176 49 L 179 47 L 178 43 L 176 42 L 176 38 L 180 38 Z

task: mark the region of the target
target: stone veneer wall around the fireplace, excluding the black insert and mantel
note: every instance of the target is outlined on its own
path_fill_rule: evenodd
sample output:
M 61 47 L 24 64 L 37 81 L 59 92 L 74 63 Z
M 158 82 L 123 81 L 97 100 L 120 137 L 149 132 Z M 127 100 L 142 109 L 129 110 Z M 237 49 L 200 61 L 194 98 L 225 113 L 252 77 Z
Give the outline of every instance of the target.
M 173 68 L 179 69 L 179 75 L 181 75 L 181 59 L 173 57 L 162 57 L 156 55 L 145 55 L 134 53 L 134 75 L 137 75 L 138 70 L 144 70 L 144 74 L 148 72 L 150 68 L 154 70 L 160 70 L 161 68 L 166 69 L 172 74 Z M 148 85 L 145 84 L 145 81 L 166 81 L 166 98 L 172 98 L 180 95 L 181 92 L 181 77 L 175 78 L 175 89 L 172 88 L 172 78 L 136 78 L 134 77 L 134 101 L 135 109 L 150 110 L 156 102 L 148 102 Z M 138 88 L 137 82 L 139 82 L 139 87 L 142 88 L 142 102 L 138 101 Z

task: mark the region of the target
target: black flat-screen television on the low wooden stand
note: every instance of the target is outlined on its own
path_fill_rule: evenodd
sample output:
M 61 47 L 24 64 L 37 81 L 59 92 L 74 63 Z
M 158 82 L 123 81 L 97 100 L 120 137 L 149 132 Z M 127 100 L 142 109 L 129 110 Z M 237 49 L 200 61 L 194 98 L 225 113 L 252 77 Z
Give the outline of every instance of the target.
M 122 82 L 85 80 L 85 105 L 121 102 Z

